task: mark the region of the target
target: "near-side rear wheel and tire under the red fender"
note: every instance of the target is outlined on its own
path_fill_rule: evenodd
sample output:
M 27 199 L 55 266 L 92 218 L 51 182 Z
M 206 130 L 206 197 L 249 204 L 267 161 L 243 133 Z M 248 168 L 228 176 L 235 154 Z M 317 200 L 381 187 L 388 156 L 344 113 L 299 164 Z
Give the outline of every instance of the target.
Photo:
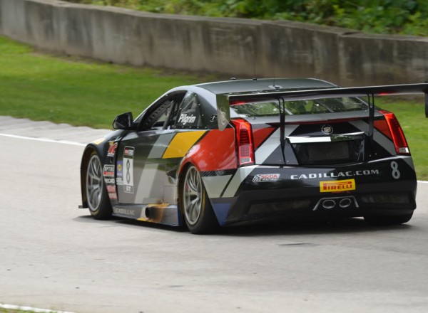
M 211 207 L 198 169 L 190 165 L 185 171 L 180 203 L 190 233 L 213 233 L 218 221 Z

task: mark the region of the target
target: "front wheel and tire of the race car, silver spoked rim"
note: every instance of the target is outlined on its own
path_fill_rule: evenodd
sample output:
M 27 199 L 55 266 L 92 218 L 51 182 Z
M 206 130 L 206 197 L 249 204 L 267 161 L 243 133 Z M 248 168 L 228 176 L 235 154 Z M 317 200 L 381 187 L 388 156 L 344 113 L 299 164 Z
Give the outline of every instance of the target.
M 86 166 L 86 199 L 89 212 L 96 220 L 111 218 L 112 208 L 103 179 L 100 157 L 92 152 Z

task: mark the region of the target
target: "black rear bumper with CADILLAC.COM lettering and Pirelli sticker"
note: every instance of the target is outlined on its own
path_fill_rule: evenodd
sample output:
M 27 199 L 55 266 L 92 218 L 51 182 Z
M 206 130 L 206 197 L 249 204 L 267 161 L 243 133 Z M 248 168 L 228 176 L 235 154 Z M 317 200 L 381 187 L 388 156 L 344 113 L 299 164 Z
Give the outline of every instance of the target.
M 260 175 L 271 176 L 260 181 Z M 322 191 L 325 182 L 347 179 L 355 184 L 350 190 Z M 412 163 L 405 157 L 335 169 L 255 166 L 232 197 L 211 198 L 211 203 L 221 225 L 280 216 L 402 215 L 416 208 L 416 189 Z

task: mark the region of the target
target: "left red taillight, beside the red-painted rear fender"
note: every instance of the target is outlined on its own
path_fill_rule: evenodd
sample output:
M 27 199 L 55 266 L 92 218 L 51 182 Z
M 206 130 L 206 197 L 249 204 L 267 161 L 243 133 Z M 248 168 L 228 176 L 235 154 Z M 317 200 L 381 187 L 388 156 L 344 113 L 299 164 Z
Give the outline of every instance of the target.
M 254 164 L 254 145 L 251 124 L 245 120 L 232 120 L 236 129 L 238 166 Z

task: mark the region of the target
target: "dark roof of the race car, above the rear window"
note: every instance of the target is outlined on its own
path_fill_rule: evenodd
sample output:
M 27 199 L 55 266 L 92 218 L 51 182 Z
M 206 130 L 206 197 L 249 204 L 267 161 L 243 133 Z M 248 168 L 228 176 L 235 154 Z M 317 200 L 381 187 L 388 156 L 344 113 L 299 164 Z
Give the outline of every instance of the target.
M 248 80 L 226 80 L 222 82 L 195 85 L 217 95 L 242 92 L 277 92 L 287 90 L 304 90 L 334 88 L 337 85 L 315 78 L 257 78 Z

